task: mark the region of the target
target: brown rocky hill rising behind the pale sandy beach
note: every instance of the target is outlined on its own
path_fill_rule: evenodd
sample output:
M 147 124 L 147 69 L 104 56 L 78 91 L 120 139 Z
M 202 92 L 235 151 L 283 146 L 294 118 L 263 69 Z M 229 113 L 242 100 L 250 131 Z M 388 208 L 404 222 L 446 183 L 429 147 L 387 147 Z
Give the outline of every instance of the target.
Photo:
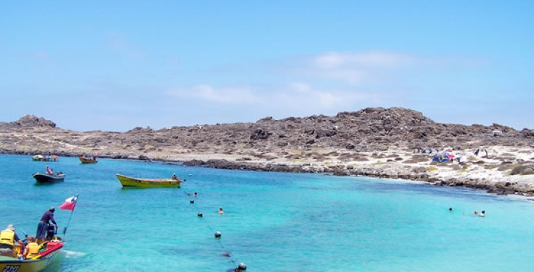
M 498 135 L 494 134 L 498 131 Z M 226 153 L 291 156 L 297 151 L 350 153 L 413 150 L 461 150 L 478 146 L 529 146 L 534 130 L 507 126 L 463 126 L 436 123 L 421 112 L 399 107 L 366 108 L 336 116 L 272 117 L 255 123 L 227 123 L 154 130 L 133 128 L 126 133 L 80 133 L 57 128 L 36 116 L 0 124 L 2 153 L 56 153 L 77 156 L 98 152 L 101 157 L 140 156 L 165 159 L 170 153 Z M 163 156 L 163 157 L 162 157 Z

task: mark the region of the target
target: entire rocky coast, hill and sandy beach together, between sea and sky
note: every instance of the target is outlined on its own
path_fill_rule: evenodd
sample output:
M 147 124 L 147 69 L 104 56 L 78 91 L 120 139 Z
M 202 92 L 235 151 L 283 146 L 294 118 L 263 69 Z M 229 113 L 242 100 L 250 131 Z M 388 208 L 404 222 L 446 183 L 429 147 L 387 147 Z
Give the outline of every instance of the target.
M 420 112 L 402 108 L 279 121 L 268 117 L 255 123 L 134 128 L 126 133 L 64 130 L 29 115 L 0 123 L 0 139 L 0 153 L 8 154 L 98 153 L 100 158 L 405 179 L 499 195 L 534 195 L 533 130 L 434 123 Z M 434 151 L 455 157 L 439 163 L 432 161 Z

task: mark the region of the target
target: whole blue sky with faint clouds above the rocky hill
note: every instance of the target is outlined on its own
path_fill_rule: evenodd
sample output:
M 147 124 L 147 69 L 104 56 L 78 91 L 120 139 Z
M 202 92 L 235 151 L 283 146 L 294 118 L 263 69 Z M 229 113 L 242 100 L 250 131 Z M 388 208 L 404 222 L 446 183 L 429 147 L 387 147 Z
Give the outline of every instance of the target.
M 534 128 L 534 1 L 1 1 L 0 121 L 126 131 L 406 107 Z

